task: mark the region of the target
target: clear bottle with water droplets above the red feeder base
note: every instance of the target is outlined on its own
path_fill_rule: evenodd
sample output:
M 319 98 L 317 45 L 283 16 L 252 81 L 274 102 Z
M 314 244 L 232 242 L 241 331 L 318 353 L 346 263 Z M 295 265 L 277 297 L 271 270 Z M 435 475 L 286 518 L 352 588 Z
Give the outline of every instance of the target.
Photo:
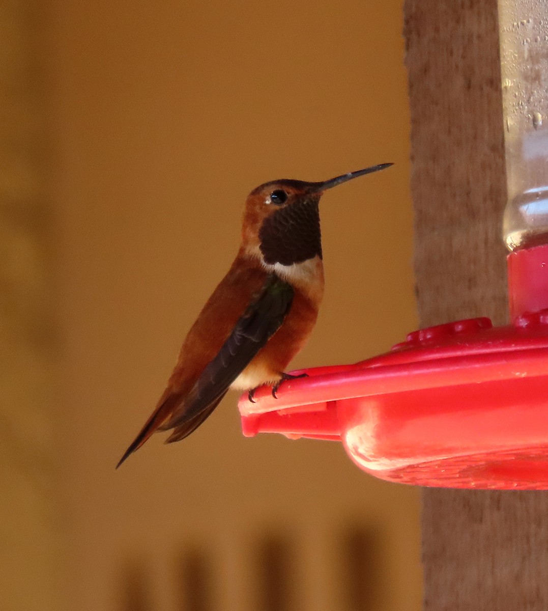
M 510 251 L 548 244 L 548 2 L 499 0 Z

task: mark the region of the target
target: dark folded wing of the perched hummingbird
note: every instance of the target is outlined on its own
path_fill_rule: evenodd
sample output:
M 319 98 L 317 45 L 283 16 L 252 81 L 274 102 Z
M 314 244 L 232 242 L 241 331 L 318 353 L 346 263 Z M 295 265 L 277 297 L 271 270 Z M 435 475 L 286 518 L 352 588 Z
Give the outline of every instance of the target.
M 258 297 L 247 307 L 217 355 L 207 364 L 193 388 L 171 414 L 162 430 L 175 429 L 167 442 L 180 441 L 215 409 L 229 386 L 278 331 L 290 310 L 293 287 L 269 274 Z

